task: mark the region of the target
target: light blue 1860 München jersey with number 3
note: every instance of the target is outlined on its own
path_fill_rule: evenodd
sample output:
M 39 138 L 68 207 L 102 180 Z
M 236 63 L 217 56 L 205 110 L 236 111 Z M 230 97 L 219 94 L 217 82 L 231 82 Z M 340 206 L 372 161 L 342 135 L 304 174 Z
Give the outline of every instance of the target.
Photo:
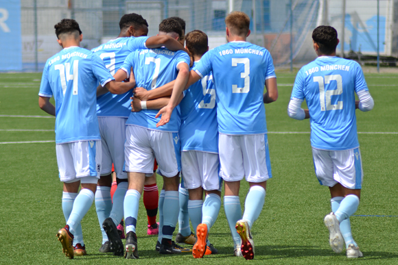
M 249 42 L 229 42 L 204 53 L 193 70 L 200 77 L 213 72 L 220 133 L 267 132 L 264 86 L 266 79 L 276 75 L 266 49 Z

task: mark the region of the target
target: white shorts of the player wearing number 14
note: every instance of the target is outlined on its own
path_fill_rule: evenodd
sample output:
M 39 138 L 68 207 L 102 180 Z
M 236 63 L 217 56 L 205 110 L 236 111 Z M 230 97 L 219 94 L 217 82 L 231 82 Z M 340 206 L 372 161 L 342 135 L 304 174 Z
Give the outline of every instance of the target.
M 73 182 L 73 179 L 81 177 L 100 178 L 102 160 L 100 140 L 56 144 L 56 153 L 62 182 Z

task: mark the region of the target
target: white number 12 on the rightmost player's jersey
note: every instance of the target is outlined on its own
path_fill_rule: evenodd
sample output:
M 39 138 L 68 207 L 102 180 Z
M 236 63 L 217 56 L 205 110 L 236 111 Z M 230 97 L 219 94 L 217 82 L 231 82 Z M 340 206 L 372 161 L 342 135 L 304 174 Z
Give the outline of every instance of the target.
M 336 81 L 337 88 L 325 92 L 325 84 L 330 84 L 331 81 Z M 314 82 L 318 82 L 319 86 L 320 110 L 323 112 L 326 110 L 342 110 L 342 101 L 331 104 L 331 96 L 342 94 L 341 75 L 325 75 L 325 83 L 323 77 L 314 77 Z

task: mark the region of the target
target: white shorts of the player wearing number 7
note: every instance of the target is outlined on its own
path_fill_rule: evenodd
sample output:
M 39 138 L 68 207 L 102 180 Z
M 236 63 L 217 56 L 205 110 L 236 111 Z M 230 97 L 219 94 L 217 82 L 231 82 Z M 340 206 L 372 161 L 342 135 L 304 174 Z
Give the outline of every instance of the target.
M 178 133 L 127 125 L 124 156 L 127 172 L 152 176 L 156 157 L 161 175 L 174 177 L 181 170 L 180 138 Z

